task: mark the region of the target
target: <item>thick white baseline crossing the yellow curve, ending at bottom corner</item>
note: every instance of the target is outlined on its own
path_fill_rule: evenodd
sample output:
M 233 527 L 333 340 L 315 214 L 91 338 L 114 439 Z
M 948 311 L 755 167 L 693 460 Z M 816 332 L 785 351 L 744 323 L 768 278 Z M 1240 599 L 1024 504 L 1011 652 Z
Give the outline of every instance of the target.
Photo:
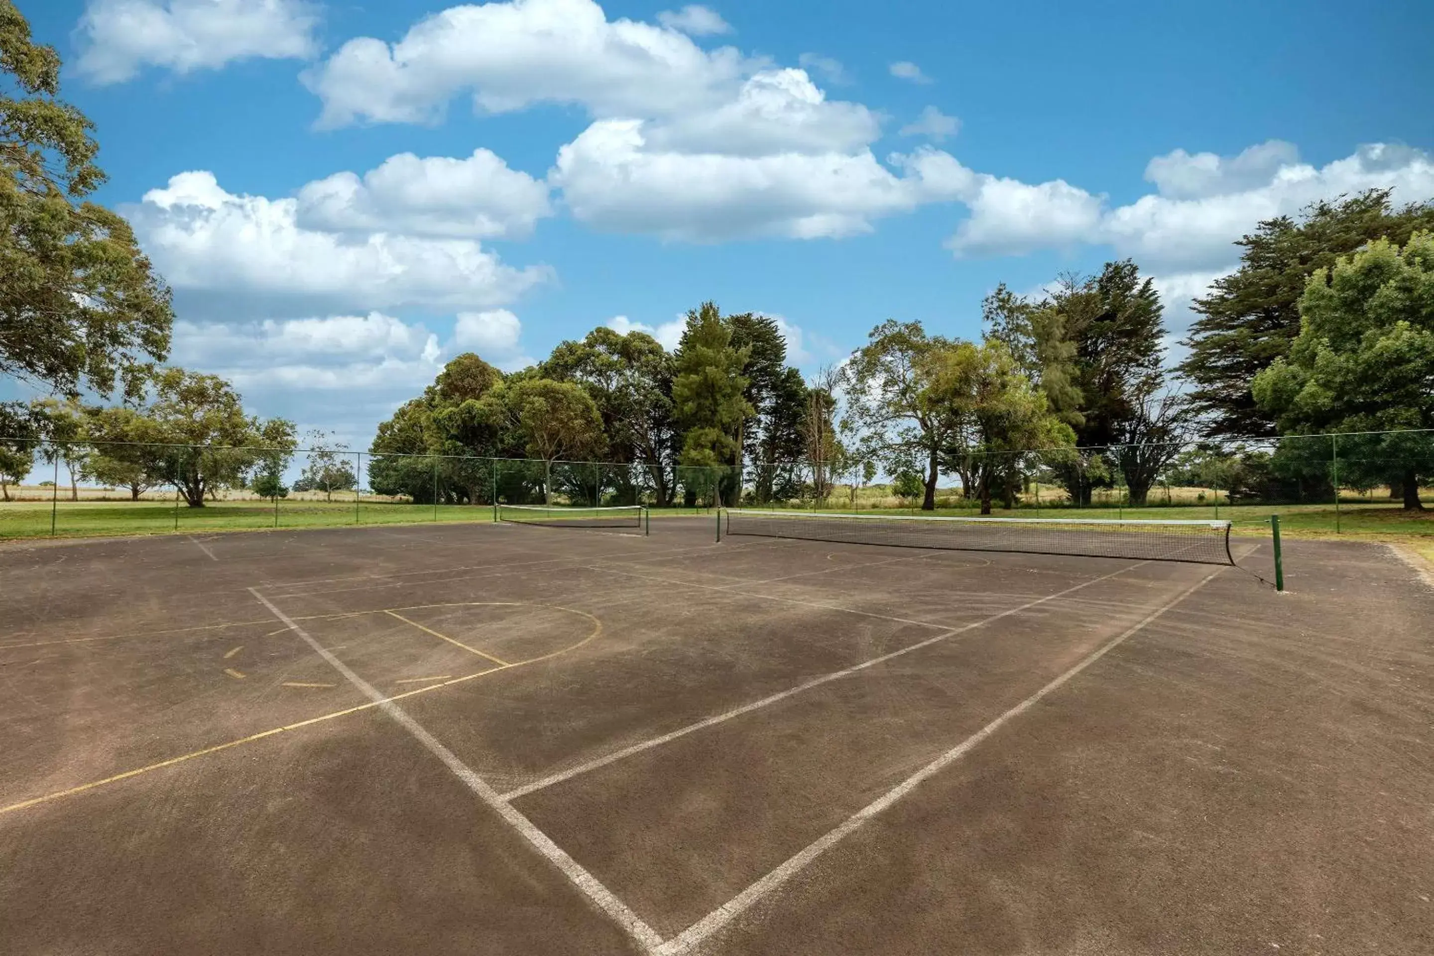
M 393 718 L 403 730 L 409 731 L 414 740 L 423 744 L 430 754 L 443 761 L 443 765 L 453 771 L 453 775 L 463 781 L 469 790 L 472 790 L 479 800 L 498 811 L 505 823 L 512 826 L 518 833 L 523 836 L 528 843 L 531 843 L 539 853 L 542 853 L 548 860 L 556 866 L 564 876 L 566 876 L 572 883 L 582 890 L 589 900 L 592 900 L 604 913 L 617 920 L 631 936 L 635 939 L 645 950 L 652 952 L 661 945 L 663 937 L 652 930 L 651 926 L 644 923 L 637 913 L 630 910 L 622 900 L 615 897 L 608 887 L 602 886 L 597 877 L 582 869 L 582 866 L 568 856 L 562 847 L 554 843 L 548 834 L 533 826 L 532 820 L 521 814 L 516 808 L 508 804 L 498 791 L 493 790 L 482 777 L 479 777 L 473 770 L 460 761 L 453 751 L 445 747 L 433 734 L 426 731 L 422 724 L 413 720 L 407 711 L 394 704 L 391 699 L 384 697 L 377 688 L 370 685 L 361 677 L 348 669 L 343 661 L 336 658 L 323 645 L 308 635 L 293 618 L 285 615 L 282 611 L 274 606 L 268 598 L 261 595 L 254 588 L 248 592 L 254 595 L 260 603 L 270 609 L 275 618 L 284 622 L 290 631 L 297 634 L 304 642 L 311 646 L 318 656 L 328 661 L 330 666 L 344 675 L 350 684 L 358 688 L 364 697 L 379 705 L 379 708 Z

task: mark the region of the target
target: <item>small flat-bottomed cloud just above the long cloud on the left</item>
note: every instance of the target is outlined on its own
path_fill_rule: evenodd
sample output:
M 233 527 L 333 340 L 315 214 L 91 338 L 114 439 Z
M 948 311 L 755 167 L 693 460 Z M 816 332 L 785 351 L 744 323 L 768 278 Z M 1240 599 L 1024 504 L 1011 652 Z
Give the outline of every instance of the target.
M 363 178 L 340 172 L 298 191 L 298 226 L 331 232 L 512 239 L 548 215 L 548 185 L 488 149 L 466 159 L 402 153 Z

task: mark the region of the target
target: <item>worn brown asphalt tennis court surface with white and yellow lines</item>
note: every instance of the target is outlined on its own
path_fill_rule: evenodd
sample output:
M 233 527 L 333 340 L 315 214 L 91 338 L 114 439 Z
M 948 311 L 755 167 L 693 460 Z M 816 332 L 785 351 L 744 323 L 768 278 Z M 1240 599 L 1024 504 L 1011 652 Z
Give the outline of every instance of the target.
M 0 950 L 1434 952 L 1387 546 L 541 512 L 0 549 Z

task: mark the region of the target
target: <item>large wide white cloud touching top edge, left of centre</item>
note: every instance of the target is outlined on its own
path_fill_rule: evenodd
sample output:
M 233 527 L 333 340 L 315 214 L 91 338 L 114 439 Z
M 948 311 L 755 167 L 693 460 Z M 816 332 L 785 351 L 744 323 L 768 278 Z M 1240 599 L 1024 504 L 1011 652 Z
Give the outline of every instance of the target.
M 324 126 L 435 122 L 462 92 L 488 113 L 572 103 L 654 116 L 720 105 L 757 67 L 673 29 L 609 21 L 592 0 L 511 0 L 449 7 L 393 44 L 348 40 L 305 83 Z

